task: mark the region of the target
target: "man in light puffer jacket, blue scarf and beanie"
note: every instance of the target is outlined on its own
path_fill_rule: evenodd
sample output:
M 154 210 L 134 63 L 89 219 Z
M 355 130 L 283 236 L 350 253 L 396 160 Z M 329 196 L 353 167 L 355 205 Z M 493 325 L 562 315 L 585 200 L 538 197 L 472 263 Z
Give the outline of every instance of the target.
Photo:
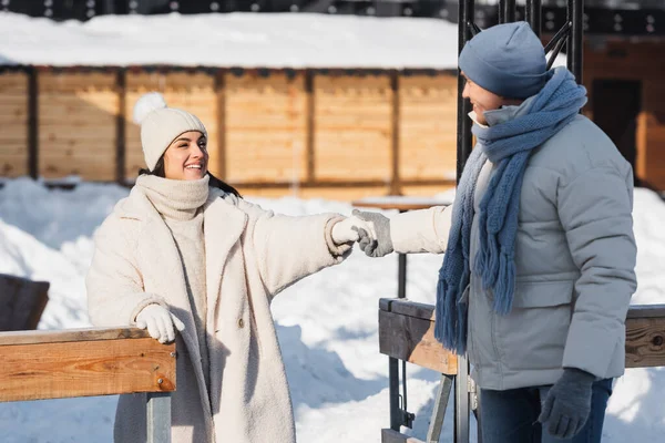
M 636 289 L 631 165 L 526 23 L 477 34 L 459 65 L 478 144 L 453 205 L 358 213 L 361 247 L 446 253 L 436 337 L 468 352 L 484 443 L 600 442 Z

